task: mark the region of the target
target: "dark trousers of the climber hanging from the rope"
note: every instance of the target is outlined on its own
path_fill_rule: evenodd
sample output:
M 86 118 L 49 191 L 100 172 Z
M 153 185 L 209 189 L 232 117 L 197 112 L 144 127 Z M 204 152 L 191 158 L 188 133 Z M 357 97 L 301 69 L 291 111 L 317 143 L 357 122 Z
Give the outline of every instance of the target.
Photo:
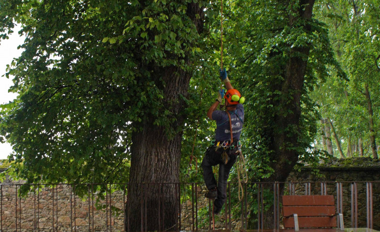
M 217 187 L 218 189 L 218 197 L 214 201 L 215 207 L 222 207 L 224 204 L 227 193 L 227 179 L 229 176 L 229 171 L 231 170 L 233 164 L 236 162 L 236 151 L 235 149 L 227 148 L 225 151 L 228 155 L 228 162 L 224 164 L 222 160 L 222 153 L 224 148 L 219 148 L 215 151 L 215 146 L 211 146 L 205 152 L 205 156 L 202 160 L 202 169 L 203 169 L 203 179 L 206 183 L 207 189 L 211 189 L 213 187 Z M 218 173 L 218 183 L 216 184 L 216 180 L 214 177 L 214 173 L 212 173 L 212 166 L 219 164 L 219 173 Z

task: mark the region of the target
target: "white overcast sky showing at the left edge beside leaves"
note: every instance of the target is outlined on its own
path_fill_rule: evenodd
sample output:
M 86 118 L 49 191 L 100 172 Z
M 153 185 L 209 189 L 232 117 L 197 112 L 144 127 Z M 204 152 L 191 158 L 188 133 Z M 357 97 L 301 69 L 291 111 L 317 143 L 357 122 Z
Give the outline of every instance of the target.
M 11 64 L 13 58 L 21 55 L 22 50 L 18 50 L 17 47 L 25 39 L 19 36 L 17 29 L 14 31 L 8 40 L 0 41 L 0 104 L 8 103 L 17 97 L 17 94 L 8 92 L 9 87 L 13 85 L 12 77 L 5 77 L 7 65 Z M 11 152 L 12 147 L 9 143 L 0 143 L 0 159 L 6 159 Z

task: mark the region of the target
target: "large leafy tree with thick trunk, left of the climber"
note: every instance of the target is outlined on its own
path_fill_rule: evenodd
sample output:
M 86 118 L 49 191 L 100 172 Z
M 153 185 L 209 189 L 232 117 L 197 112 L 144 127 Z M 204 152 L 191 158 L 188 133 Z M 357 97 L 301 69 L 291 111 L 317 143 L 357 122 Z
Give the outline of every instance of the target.
M 142 183 L 179 181 L 183 109 L 205 4 L 0 1 L 2 39 L 15 22 L 27 37 L 7 73 L 20 95 L 3 106 L 1 123 L 19 177 L 27 183 L 130 181 L 131 229 L 141 230 L 143 193 L 151 207 L 145 229 L 173 229 L 175 186 L 159 191 Z M 166 210 L 161 227 L 158 197 Z

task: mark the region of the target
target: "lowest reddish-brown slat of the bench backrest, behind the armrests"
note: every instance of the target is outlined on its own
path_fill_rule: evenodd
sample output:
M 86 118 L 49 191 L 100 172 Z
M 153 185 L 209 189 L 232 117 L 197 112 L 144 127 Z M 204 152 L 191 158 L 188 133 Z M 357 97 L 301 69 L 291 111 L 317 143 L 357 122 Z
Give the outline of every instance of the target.
M 298 217 L 300 228 L 305 227 L 336 227 L 336 217 Z M 284 227 L 294 228 L 294 217 L 284 217 Z

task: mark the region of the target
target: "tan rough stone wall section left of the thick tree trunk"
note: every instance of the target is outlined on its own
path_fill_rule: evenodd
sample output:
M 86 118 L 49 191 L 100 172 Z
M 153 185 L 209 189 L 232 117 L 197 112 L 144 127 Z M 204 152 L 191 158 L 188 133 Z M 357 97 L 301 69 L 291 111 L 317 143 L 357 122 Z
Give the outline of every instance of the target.
M 96 196 L 80 199 L 72 193 L 72 186 L 57 185 L 42 188 L 27 197 L 19 197 L 18 185 L 1 186 L 2 231 L 123 231 L 123 214 L 112 213 L 114 207 L 123 208 L 123 194 L 114 192 L 97 210 Z M 110 205 L 112 209 L 110 209 Z M 72 230 L 71 230 L 72 229 Z

